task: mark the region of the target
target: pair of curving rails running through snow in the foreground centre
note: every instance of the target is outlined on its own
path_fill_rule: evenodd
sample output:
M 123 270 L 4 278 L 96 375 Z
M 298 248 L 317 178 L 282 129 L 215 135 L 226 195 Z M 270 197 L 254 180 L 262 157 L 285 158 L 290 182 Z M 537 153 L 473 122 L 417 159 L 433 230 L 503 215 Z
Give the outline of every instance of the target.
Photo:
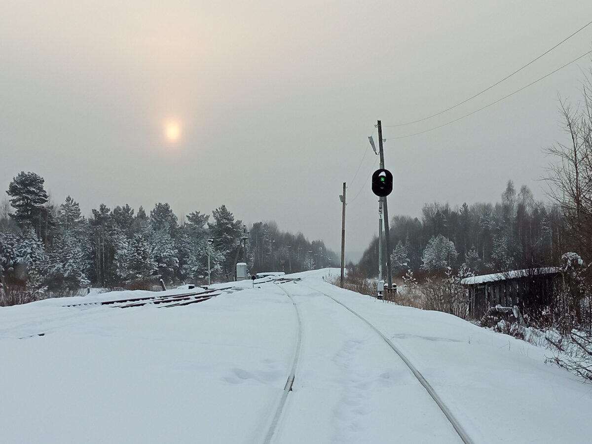
M 284 283 L 285 282 L 278 282 L 278 284 L 284 284 Z M 298 320 L 298 339 L 297 339 L 297 345 L 296 345 L 296 349 L 295 349 L 295 353 L 294 353 L 294 361 L 292 362 L 291 372 L 288 375 L 287 382 L 284 387 L 284 391 L 282 392 L 281 400 L 276 404 L 275 411 L 273 414 L 273 419 L 271 421 L 271 425 L 269 426 L 268 432 L 266 433 L 265 439 L 263 440 L 264 444 L 271 444 L 272 439 L 274 438 L 274 435 L 276 434 L 276 431 L 278 430 L 279 422 L 282 417 L 282 414 L 284 413 L 285 405 L 288 400 L 288 395 L 292 391 L 292 385 L 294 384 L 294 379 L 296 377 L 295 372 L 298 367 L 298 360 L 300 359 L 300 349 L 301 349 L 301 342 L 302 342 L 302 320 L 301 320 L 300 311 L 298 310 L 298 305 L 295 303 L 294 298 L 292 297 L 290 292 L 286 288 L 284 288 L 284 285 L 278 285 L 278 287 L 281 288 L 282 291 L 285 292 L 285 294 L 290 298 L 290 300 L 292 301 L 292 304 L 294 305 L 294 309 L 296 311 L 296 316 L 297 316 L 297 320 Z M 417 379 L 417 381 L 419 381 L 419 383 L 422 385 L 422 387 L 426 390 L 427 394 L 434 401 L 434 403 L 437 405 L 439 410 L 442 411 L 442 414 L 446 417 L 446 420 L 452 425 L 456 434 L 461 439 L 461 442 L 463 442 L 464 444 L 474 444 L 474 441 L 472 440 L 472 438 L 468 435 L 468 433 L 466 432 L 464 427 L 462 427 L 462 424 L 459 423 L 459 421 L 453 415 L 451 409 L 448 406 L 446 406 L 446 404 L 442 401 L 442 399 L 439 397 L 439 395 L 434 390 L 434 388 L 429 383 L 429 381 L 427 381 L 427 379 L 423 377 L 423 375 L 419 371 L 419 369 L 417 369 L 416 366 L 413 365 L 413 363 L 407 358 L 407 356 L 404 355 L 404 353 L 401 352 L 401 350 L 398 349 L 397 346 L 395 346 L 394 343 L 392 343 L 391 340 L 388 339 L 388 337 L 385 336 L 384 333 L 382 333 L 376 326 L 374 326 L 374 324 L 372 324 L 370 321 L 368 321 L 361 314 L 359 314 L 358 312 L 356 312 L 352 308 L 348 307 L 348 305 L 343 304 L 342 302 L 338 301 L 336 298 L 332 297 L 331 295 L 326 294 L 323 291 L 319 291 L 318 289 L 311 288 L 311 287 L 308 287 L 305 285 L 303 285 L 303 287 L 310 288 L 311 291 L 320 293 L 320 294 L 324 295 L 325 297 L 329 298 L 330 300 L 332 300 L 334 303 L 339 304 L 341 307 L 345 308 L 345 310 L 348 310 L 351 314 L 353 314 L 353 316 L 356 316 L 359 320 L 361 320 L 363 323 L 365 323 L 366 326 L 368 326 L 385 343 L 387 343 L 387 345 L 397 354 L 398 358 L 400 358 L 401 361 L 403 361 L 404 364 L 407 366 L 407 368 L 411 371 L 411 374 L 413 374 L 413 376 Z

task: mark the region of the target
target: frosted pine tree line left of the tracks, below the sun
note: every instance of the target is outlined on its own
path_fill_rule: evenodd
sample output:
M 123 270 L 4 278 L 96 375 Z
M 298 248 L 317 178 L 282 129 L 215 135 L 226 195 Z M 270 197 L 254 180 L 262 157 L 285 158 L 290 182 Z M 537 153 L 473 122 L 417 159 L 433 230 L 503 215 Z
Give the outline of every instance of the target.
M 9 184 L 0 208 L 0 266 L 5 297 L 11 286 L 27 291 L 63 291 L 83 287 L 124 287 L 234 279 L 237 262 L 250 272 L 299 272 L 337 264 L 322 240 L 308 241 L 257 222 L 249 229 L 226 205 L 209 214 L 189 213 L 185 220 L 168 203 L 147 213 L 130 205 L 111 210 L 101 204 L 89 218 L 68 196 L 54 206 L 44 179 L 21 172 Z

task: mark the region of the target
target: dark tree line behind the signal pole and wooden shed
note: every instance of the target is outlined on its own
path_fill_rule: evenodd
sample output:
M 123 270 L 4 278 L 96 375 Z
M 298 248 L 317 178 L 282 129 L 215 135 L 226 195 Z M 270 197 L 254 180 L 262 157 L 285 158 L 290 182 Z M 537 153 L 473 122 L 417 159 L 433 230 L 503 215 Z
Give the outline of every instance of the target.
M 508 181 L 500 202 L 494 204 L 451 208 L 434 202 L 424 204 L 421 219 L 393 217 L 392 272 L 443 275 L 465 265 L 474 274 L 488 274 L 554 265 L 565 247 L 563 227 L 558 205 L 536 202 L 527 186 L 517 192 Z M 377 251 L 375 238 L 358 264 L 368 275 L 377 274 Z

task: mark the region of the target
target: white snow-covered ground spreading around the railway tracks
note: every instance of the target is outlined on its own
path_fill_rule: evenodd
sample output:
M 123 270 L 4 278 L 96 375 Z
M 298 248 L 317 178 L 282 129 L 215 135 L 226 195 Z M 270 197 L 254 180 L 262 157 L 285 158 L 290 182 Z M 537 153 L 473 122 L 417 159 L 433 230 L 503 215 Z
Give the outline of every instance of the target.
M 134 291 L 0 308 L 0 442 L 264 442 L 298 340 L 287 292 L 301 352 L 271 442 L 461 442 L 387 343 L 325 294 L 406 354 L 472 442 L 592 442 L 592 386 L 545 365 L 548 350 L 324 274 L 183 307 L 63 307 L 147 294 Z

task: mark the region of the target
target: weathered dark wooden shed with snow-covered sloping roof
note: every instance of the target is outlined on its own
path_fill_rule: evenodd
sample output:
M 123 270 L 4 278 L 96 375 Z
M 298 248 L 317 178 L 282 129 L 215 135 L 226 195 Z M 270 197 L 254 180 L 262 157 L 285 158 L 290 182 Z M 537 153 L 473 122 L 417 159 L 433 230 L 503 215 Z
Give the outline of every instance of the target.
M 469 290 L 469 317 L 481 318 L 488 308 L 516 305 L 521 312 L 540 310 L 555 300 L 561 268 L 530 268 L 472 276 L 461 283 Z

